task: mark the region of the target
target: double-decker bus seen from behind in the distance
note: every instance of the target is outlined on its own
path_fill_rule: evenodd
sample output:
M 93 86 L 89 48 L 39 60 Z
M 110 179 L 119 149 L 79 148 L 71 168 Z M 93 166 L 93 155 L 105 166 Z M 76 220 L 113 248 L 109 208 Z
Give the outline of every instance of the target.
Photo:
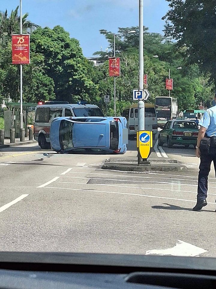
M 177 117 L 177 98 L 171 96 L 156 96 L 155 108 L 158 118 L 158 127 L 164 126 L 167 120 L 172 120 Z

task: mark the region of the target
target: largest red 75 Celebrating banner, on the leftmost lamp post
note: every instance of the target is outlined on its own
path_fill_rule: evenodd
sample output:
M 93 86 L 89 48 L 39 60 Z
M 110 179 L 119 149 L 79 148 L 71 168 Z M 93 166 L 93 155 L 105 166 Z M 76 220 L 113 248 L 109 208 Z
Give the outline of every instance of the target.
M 29 34 L 12 35 L 12 64 L 30 63 L 30 36 Z

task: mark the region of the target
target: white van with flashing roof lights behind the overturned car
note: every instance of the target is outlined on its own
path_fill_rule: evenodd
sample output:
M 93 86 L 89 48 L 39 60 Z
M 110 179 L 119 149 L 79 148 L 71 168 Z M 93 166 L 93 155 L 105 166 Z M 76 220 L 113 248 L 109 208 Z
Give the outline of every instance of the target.
M 67 101 L 39 102 L 35 107 L 34 139 L 42 149 L 49 148 L 49 130 L 55 117 L 104 117 L 101 109 L 94 104 L 78 102 L 70 104 Z

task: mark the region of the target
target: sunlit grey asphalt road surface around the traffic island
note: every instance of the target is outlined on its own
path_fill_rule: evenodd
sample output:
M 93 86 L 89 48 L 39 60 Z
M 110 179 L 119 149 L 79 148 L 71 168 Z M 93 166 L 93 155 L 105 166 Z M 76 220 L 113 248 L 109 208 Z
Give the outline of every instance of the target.
M 216 257 L 216 184 L 196 204 L 199 159 L 189 149 L 158 147 L 186 172 L 102 170 L 110 155 L 57 154 L 35 143 L 0 151 L 0 250 Z M 127 155 L 136 156 L 136 140 Z

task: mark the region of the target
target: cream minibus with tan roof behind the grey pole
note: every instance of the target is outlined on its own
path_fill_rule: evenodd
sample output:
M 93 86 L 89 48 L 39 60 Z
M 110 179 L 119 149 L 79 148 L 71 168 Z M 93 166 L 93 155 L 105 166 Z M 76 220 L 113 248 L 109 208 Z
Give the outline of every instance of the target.
M 137 136 L 138 130 L 138 103 L 125 107 L 122 116 L 126 117 L 128 121 L 127 128 L 130 131 L 130 139 L 133 139 Z M 153 103 L 145 103 L 145 129 L 152 131 L 153 139 L 155 139 L 158 132 L 158 120 Z

